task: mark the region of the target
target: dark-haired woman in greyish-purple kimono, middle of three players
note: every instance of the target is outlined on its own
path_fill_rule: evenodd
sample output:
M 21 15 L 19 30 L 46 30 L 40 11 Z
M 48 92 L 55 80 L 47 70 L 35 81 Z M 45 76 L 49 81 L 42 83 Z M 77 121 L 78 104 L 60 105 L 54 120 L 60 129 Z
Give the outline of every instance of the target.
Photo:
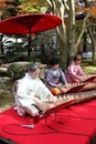
M 51 69 L 45 74 L 46 86 L 53 94 L 61 94 L 67 88 L 64 72 L 60 69 L 57 59 L 51 60 Z

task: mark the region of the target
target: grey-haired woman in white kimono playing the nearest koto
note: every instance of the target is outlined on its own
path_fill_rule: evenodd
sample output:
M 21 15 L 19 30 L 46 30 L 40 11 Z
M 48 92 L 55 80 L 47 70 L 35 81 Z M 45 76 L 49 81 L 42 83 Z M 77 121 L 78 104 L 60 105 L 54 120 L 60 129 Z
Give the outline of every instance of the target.
M 25 76 L 17 82 L 14 90 L 15 104 L 19 115 L 29 113 L 32 116 L 39 115 L 41 111 L 49 109 L 49 102 L 55 102 L 56 97 L 39 79 L 40 68 L 31 64 Z

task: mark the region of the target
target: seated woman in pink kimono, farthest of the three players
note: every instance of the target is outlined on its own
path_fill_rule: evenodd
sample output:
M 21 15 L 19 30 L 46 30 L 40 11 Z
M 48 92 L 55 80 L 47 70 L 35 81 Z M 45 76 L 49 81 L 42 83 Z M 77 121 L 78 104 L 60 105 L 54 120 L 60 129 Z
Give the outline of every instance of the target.
M 81 55 L 75 55 L 74 61 L 71 63 L 71 65 L 67 68 L 66 71 L 66 80 L 68 83 L 72 82 L 81 82 L 86 79 L 86 74 L 83 72 L 81 68 Z

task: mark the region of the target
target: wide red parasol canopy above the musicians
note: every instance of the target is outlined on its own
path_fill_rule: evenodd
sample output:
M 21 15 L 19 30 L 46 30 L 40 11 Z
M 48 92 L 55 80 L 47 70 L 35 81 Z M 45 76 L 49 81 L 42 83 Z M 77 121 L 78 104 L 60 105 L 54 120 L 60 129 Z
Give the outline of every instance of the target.
M 0 33 L 26 34 L 38 33 L 53 29 L 61 24 L 62 20 L 53 14 L 26 13 L 6 19 L 0 22 Z

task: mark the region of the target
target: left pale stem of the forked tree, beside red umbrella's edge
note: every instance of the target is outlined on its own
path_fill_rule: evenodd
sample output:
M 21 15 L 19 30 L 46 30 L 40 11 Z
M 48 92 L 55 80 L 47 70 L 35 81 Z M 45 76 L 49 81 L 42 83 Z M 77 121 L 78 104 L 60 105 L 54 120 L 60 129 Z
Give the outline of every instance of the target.
M 67 38 L 66 38 L 66 27 L 64 23 L 64 12 L 65 7 L 63 0 L 46 0 L 46 2 L 52 7 L 53 14 L 58 16 L 62 19 L 62 24 L 56 28 L 57 37 L 60 39 L 60 51 L 63 68 L 67 66 Z

